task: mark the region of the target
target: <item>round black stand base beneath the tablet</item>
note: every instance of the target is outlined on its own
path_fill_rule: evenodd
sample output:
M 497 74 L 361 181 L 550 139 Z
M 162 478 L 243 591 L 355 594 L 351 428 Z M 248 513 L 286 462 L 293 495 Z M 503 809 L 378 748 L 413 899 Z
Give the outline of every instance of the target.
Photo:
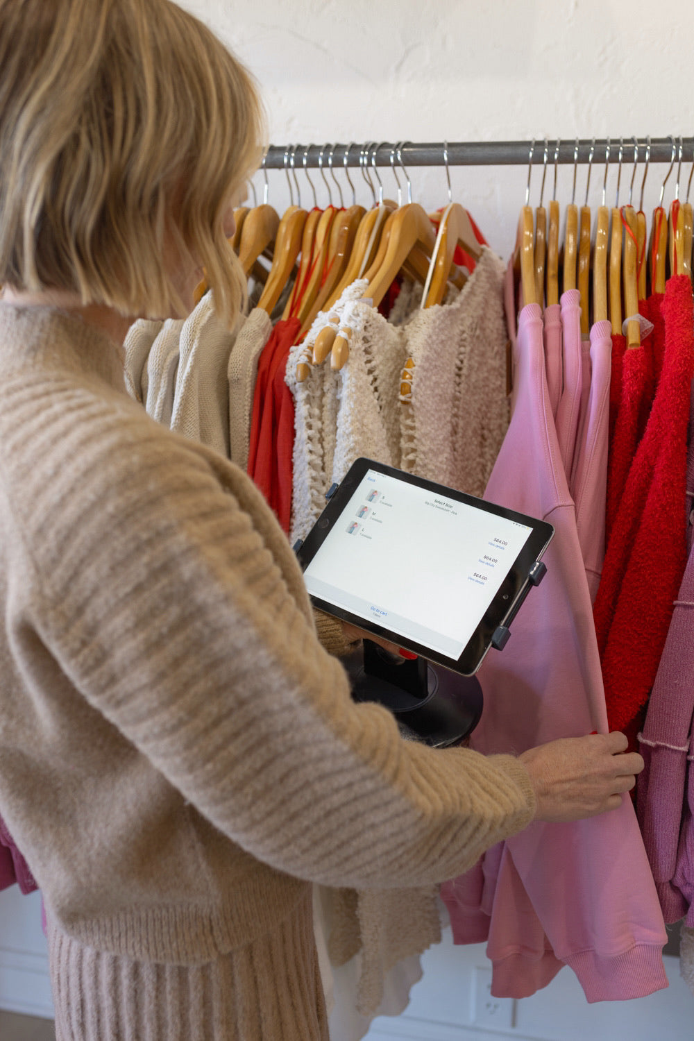
M 391 655 L 363 641 L 343 664 L 357 702 L 377 702 L 394 714 L 402 733 L 433 747 L 459 744 L 477 727 L 483 695 L 479 680 L 417 658 Z

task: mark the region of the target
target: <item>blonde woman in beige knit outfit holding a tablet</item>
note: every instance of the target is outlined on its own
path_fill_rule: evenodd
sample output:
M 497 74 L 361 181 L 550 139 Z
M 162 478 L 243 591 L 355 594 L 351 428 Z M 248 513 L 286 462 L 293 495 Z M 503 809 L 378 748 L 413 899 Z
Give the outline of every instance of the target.
M 311 882 L 440 882 L 615 807 L 641 759 L 401 740 L 253 484 L 126 395 L 134 318 L 185 313 L 203 266 L 240 304 L 262 127 L 219 41 L 169 0 L 0 0 L 0 813 L 57 1037 L 325 1038 Z

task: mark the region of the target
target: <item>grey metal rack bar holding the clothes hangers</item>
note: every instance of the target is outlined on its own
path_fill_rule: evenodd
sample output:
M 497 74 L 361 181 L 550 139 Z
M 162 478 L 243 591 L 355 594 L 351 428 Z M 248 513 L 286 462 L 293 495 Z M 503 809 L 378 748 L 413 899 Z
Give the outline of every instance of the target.
M 673 138 L 653 137 L 650 141 L 650 161 L 670 162 L 673 158 Z M 678 156 L 678 146 L 680 138 L 675 142 L 675 155 Z M 645 161 L 647 142 L 645 137 L 637 137 L 638 161 Z M 434 144 L 419 144 L 406 142 L 400 146 L 403 163 L 405 167 L 443 167 L 444 148 L 447 151 L 447 161 L 451 167 L 509 167 L 528 164 L 532 142 L 530 141 L 494 141 L 494 142 L 448 142 L 445 146 L 443 142 Z M 581 138 L 577 143 L 577 158 L 575 154 L 576 143 L 571 139 L 562 139 L 559 144 L 557 162 L 568 164 L 577 161 L 588 162 L 590 150 L 594 149 L 593 161 L 597 164 L 605 161 L 607 155 L 608 141 Z M 617 162 L 619 150 L 622 149 L 622 162 L 634 162 L 634 137 L 611 137 L 610 138 L 610 162 Z M 368 157 L 368 164 L 376 158 L 377 167 L 388 167 L 391 162 L 391 155 L 397 145 L 392 142 L 370 142 L 365 144 L 337 144 L 337 145 L 271 145 L 265 157 L 267 170 L 282 170 L 290 166 L 293 155 L 294 167 L 301 169 L 308 167 L 317 169 L 322 163 L 328 166 L 327 157 L 332 151 L 332 163 L 335 169 L 344 166 L 346 155 L 348 167 L 359 167 L 360 158 L 364 161 L 364 156 Z M 533 163 L 544 161 L 544 138 L 536 139 L 533 151 Z M 548 159 L 547 163 L 555 162 L 555 152 L 557 141 L 547 142 Z M 683 138 L 683 161 L 694 160 L 694 137 Z

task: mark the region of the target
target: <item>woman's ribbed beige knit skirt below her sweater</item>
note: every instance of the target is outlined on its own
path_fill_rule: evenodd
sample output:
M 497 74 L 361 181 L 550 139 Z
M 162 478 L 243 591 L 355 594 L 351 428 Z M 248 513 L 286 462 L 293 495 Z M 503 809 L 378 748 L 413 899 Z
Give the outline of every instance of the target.
M 56 1041 L 327 1041 L 311 904 L 206 965 L 108 955 L 48 929 Z

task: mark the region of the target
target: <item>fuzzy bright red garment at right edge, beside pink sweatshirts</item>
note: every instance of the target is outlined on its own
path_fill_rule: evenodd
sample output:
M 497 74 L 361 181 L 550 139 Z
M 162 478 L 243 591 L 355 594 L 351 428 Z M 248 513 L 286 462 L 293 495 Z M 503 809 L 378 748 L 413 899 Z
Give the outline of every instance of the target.
M 687 429 L 694 375 L 692 286 L 667 283 L 656 399 L 619 504 L 594 607 L 610 729 L 646 703 L 687 564 Z

